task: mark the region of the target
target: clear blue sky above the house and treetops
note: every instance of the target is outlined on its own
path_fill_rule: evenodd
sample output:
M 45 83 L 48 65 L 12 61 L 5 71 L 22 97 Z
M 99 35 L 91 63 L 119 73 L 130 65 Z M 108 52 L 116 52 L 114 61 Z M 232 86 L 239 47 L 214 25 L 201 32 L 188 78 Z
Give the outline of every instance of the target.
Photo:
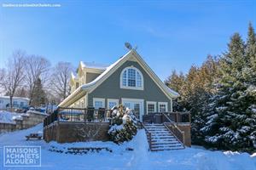
M 171 71 L 187 72 L 207 54 L 222 54 L 230 36 L 247 36 L 256 26 L 256 0 L 244 1 L 3 1 L 60 3 L 60 8 L 0 7 L 0 67 L 17 48 L 40 54 L 52 65 L 80 60 L 111 64 L 137 51 L 164 80 Z

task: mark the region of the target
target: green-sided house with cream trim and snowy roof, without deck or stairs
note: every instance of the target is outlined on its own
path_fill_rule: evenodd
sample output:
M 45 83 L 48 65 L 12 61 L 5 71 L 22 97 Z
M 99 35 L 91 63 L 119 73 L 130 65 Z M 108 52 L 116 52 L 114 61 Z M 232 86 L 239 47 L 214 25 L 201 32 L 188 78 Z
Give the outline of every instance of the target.
M 111 109 L 123 104 L 139 119 L 155 112 L 172 112 L 172 100 L 179 94 L 152 71 L 135 49 L 112 65 L 79 63 L 70 80 L 71 92 L 60 107 Z

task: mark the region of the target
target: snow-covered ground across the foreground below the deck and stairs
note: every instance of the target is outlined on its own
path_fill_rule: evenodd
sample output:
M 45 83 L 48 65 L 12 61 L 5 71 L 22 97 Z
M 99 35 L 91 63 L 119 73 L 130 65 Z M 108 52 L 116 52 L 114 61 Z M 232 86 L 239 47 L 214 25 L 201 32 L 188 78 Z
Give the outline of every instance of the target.
M 256 170 L 256 154 L 210 151 L 201 148 L 185 150 L 149 152 L 143 130 L 128 143 L 117 145 L 112 142 L 89 142 L 57 144 L 41 141 L 26 141 L 29 133 L 42 133 L 42 124 L 30 129 L 5 133 L 0 136 L 0 169 L 28 169 L 27 167 L 3 167 L 3 146 L 40 145 L 42 147 L 42 167 L 29 169 L 174 169 L 174 170 Z M 58 149 L 67 147 L 108 147 L 113 152 L 100 151 L 84 155 L 71 155 L 49 151 L 51 146 Z M 126 148 L 134 150 L 126 150 Z

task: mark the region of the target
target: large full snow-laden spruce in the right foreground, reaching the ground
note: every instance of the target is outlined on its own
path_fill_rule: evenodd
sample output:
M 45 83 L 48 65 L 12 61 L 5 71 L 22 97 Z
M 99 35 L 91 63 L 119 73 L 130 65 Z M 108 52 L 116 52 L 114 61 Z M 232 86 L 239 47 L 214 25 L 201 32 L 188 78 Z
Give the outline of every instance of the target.
M 220 61 L 221 77 L 217 93 L 207 105 L 207 123 L 201 131 L 211 147 L 226 150 L 253 150 L 253 109 L 255 92 L 250 90 L 252 71 L 248 71 L 249 58 L 239 34 L 231 37 L 228 53 Z M 255 134 L 254 134 L 255 136 Z

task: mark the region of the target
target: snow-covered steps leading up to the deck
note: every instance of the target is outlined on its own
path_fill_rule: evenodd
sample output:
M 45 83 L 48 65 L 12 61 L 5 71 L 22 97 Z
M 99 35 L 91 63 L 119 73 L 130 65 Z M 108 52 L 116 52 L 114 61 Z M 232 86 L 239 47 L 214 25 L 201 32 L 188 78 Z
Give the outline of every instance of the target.
M 158 151 L 158 150 L 180 150 L 184 149 L 183 143 L 177 140 L 172 133 L 165 127 L 163 124 L 149 124 L 145 123 L 144 127 L 151 133 L 151 150 Z

